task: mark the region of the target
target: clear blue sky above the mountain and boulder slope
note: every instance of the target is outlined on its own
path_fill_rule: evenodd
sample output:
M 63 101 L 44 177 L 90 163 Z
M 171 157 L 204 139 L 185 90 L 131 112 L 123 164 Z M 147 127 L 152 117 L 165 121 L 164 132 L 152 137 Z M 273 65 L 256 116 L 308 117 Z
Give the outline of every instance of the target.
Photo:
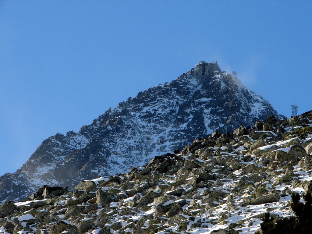
M 280 114 L 311 110 L 311 12 L 311 1 L 0 1 L 0 174 L 200 60 L 237 71 Z

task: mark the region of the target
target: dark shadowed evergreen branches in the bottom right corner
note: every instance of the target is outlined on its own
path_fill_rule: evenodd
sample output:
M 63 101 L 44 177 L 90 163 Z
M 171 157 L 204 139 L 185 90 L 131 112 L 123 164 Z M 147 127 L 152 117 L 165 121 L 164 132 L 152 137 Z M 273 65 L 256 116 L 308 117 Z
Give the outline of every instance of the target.
M 312 233 L 312 193 L 308 190 L 302 195 L 305 203 L 300 202 L 300 194 L 291 194 L 290 207 L 294 215 L 276 219 L 266 212 L 262 218 L 261 229 L 255 234 L 311 234 Z

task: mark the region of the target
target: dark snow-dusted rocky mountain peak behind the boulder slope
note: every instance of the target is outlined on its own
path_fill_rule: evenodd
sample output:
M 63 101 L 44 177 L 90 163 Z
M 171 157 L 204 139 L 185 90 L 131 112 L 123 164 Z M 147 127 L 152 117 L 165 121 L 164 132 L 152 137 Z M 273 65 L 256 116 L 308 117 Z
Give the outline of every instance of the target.
M 253 125 L 269 115 L 269 102 L 221 71 L 198 68 L 170 83 L 141 91 L 83 126 L 42 142 L 15 173 L 0 177 L 0 201 L 21 199 L 41 184 L 72 186 L 81 179 L 123 173 L 153 156 L 173 152 L 213 131 Z

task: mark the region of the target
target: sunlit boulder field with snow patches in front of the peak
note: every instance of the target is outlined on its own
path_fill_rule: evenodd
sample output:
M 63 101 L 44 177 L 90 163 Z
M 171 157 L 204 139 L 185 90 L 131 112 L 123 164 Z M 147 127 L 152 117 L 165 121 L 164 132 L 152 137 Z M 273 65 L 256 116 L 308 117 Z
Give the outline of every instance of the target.
M 312 190 L 312 111 L 214 132 L 126 174 L 42 186 L 0 207 L 0 233 L 254 233 L 266 211 L 292 214 L 292 191 Z

